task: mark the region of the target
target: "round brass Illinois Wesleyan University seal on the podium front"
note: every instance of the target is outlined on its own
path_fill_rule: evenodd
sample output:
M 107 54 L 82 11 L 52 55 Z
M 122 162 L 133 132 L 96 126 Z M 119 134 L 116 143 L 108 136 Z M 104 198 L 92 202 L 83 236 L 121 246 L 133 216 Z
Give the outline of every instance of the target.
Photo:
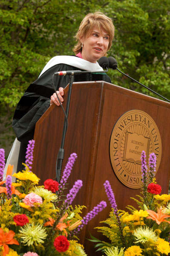
M 141 188 L 141 152 L 155 153 L 156 171 L 161 161 L 161 136 L 151 116 L 144 111 L 131 110 L 124 113 L 112 130 L 110 137 L 110 160 L 118 179 L 132 189 Z

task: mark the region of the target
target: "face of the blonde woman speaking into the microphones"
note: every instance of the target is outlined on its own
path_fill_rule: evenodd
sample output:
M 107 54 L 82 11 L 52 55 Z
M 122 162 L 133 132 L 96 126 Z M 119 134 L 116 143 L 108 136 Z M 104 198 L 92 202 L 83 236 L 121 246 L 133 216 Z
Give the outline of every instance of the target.
M 97 26 L 94 26 L 89 37 L 81 37 L 80 41 L 83 44 L 81 52 L 82 58 L 95 63 L 107 52 L 109 35 L 105 30 L 100 32 Z

